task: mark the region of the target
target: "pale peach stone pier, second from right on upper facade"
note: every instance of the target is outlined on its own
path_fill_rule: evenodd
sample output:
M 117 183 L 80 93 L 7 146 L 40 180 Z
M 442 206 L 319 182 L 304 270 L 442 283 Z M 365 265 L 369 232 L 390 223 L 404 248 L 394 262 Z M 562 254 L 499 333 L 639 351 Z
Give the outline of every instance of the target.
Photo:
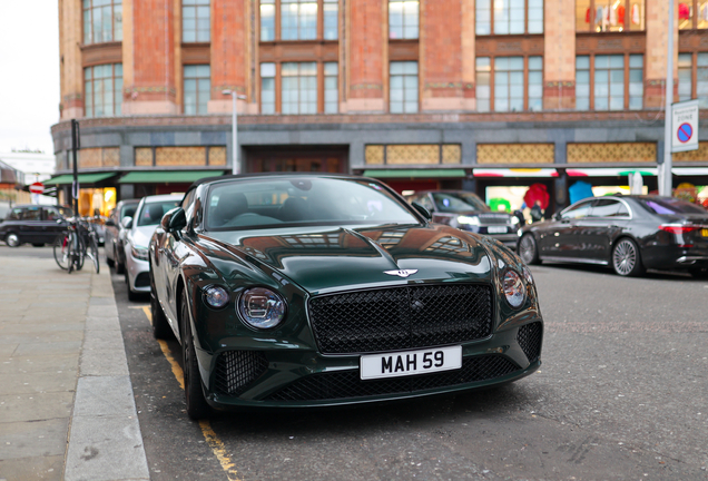
M 545 0 L 543 7 L 543 110 L 576 108 L 576 6 Z

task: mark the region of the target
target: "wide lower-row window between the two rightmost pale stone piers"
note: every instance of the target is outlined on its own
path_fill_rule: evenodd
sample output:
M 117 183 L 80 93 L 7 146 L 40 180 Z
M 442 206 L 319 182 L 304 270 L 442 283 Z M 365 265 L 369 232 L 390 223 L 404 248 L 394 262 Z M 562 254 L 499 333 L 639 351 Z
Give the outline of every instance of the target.
M 641 110 L 643 95 L 643 56 L 576 57 L 577 110 Z

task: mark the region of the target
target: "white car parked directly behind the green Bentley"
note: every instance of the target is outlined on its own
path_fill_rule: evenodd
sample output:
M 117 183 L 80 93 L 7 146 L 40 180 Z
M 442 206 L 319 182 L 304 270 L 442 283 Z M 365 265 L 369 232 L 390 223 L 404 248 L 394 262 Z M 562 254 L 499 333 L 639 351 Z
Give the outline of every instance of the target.
M 150 265 L 148 263 L 150 237 L 165 213 L 177 207 L 183 197 L 183 194 L 144 197 L 135 210 L 135 216 L 132 218 L 125 217 L 121 220 L 126 228 L 124 251 L 126 254 L 126 284 L 128 284 L 128 298 L 130 301 L 137 301 L 139 294 L 150 292 Z

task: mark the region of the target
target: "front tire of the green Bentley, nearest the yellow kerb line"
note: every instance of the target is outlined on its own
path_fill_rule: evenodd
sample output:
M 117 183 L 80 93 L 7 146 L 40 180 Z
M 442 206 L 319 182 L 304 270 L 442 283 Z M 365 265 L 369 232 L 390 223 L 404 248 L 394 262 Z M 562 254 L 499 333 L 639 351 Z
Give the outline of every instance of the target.
M 201 387 L 201 375 L 197 363 L 197 351 L 194 346 L 191 334 L 191 323 L 189 322 L 189 308 L 187 294 L 183 291 L 179 304 L 179 322 L 181 324 L 181 360 L 185 383 L 185 402 L 187 403 L 187 415 L 198 421 L 207 418 L 210 413 L 209 405 L 204 396 Z

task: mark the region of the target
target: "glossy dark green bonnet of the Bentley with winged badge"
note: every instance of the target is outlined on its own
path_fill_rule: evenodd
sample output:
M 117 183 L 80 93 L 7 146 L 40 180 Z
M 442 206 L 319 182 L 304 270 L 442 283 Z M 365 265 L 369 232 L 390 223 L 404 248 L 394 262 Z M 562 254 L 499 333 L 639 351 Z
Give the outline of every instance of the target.
M 446 226 L 209 233 L 223 248 L 311 294 L 409 282 L 486 281 L 488 251 Z M 228 277 L 228 275 L 225 275 Z

